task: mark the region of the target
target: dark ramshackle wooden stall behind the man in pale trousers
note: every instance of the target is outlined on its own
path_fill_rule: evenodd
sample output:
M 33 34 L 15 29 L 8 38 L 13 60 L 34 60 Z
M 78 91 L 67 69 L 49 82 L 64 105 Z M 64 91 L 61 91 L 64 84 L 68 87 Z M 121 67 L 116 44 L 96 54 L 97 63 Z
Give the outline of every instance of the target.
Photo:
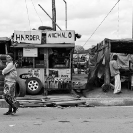
M 127 88 L 131 89 L 131 75 L 132 68 L 129 65 L 133 60 L 133 39 L 104 39 L 101 43 L 89 50 L 90 58 L 90 71 L 88 75 L 88 83 L 86 88 L 89 88 L 89 84 L 98 84 L 101 81 L 100 86 L 104 84 L 102 89 L 104 91 L 110 88 L 110 69 L 109 62 L 113 54 L 118 55 L 118 63 L 122 66 L 121 79 L 127 80 Z

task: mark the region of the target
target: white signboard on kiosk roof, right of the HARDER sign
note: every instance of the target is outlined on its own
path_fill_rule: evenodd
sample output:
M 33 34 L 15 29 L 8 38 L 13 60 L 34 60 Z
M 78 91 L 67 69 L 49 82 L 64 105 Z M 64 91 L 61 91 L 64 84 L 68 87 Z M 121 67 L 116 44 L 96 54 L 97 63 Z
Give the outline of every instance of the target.
M 46 33 L 46 43 L 74 43 L 74 31 L 48 31 Z

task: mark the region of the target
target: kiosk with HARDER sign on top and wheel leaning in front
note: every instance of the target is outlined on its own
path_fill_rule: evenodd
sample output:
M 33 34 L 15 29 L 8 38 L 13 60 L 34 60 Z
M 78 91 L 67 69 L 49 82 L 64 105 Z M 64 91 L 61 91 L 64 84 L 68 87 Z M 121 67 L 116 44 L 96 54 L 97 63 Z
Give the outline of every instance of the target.
M 12 47 L 18 81 L 28 93 L 71 90 L 74 31 L 15 31 Z

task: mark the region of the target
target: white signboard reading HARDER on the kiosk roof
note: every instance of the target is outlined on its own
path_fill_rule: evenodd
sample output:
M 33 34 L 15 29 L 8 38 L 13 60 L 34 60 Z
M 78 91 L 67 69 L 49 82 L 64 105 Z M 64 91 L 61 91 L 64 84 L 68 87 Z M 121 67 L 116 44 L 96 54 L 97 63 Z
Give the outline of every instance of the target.
M 14 42 L 41 44 L 42 32 L 35 31 L 14 31 Z

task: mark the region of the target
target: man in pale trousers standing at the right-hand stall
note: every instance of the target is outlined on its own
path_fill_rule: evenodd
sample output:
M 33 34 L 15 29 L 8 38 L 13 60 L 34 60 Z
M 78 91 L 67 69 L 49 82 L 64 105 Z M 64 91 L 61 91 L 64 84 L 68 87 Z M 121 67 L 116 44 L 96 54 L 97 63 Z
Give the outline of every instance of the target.
M 121 67 L 118 66 L 117 58 L 118 58 L 117 55 L 113 55 L 113 60 L 110 61 L 111 77 L 114 77 L 115 79 L 114 94 L 121 93 L 121 80 L 120 80 L 120 71 L 119 71 Z

